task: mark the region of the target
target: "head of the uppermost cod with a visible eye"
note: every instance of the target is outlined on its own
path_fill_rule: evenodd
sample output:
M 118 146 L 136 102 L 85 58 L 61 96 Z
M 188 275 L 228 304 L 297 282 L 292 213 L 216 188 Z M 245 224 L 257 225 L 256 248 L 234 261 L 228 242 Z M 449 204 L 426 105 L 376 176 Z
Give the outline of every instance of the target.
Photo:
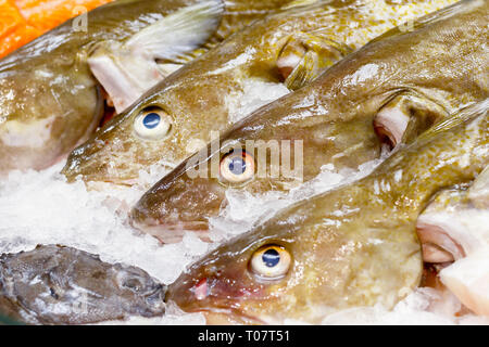
M 173 169 L 205 146 L 211 131 L 228 126 L 228 83 L 225 76 L 192 82 L 199 66 L 176 72 L 75 149 L 63 169 L 67 179 L 133 185 L 141 170 Z

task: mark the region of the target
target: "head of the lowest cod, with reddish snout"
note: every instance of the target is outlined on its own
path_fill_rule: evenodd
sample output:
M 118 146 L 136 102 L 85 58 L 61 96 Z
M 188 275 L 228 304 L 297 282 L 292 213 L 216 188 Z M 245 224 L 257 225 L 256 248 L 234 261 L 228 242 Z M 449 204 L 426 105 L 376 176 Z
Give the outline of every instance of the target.
M 391 308 L 419 283 L 412 226 L 374 236 L 369 221 L 379 215 L 338 218 L 331 208 L 323 219 L 316 208 L 324 206 L 292 207 L 221 245 L 171 284 L 166 299 L 208 323 L 321 323 L 352 307 Z

